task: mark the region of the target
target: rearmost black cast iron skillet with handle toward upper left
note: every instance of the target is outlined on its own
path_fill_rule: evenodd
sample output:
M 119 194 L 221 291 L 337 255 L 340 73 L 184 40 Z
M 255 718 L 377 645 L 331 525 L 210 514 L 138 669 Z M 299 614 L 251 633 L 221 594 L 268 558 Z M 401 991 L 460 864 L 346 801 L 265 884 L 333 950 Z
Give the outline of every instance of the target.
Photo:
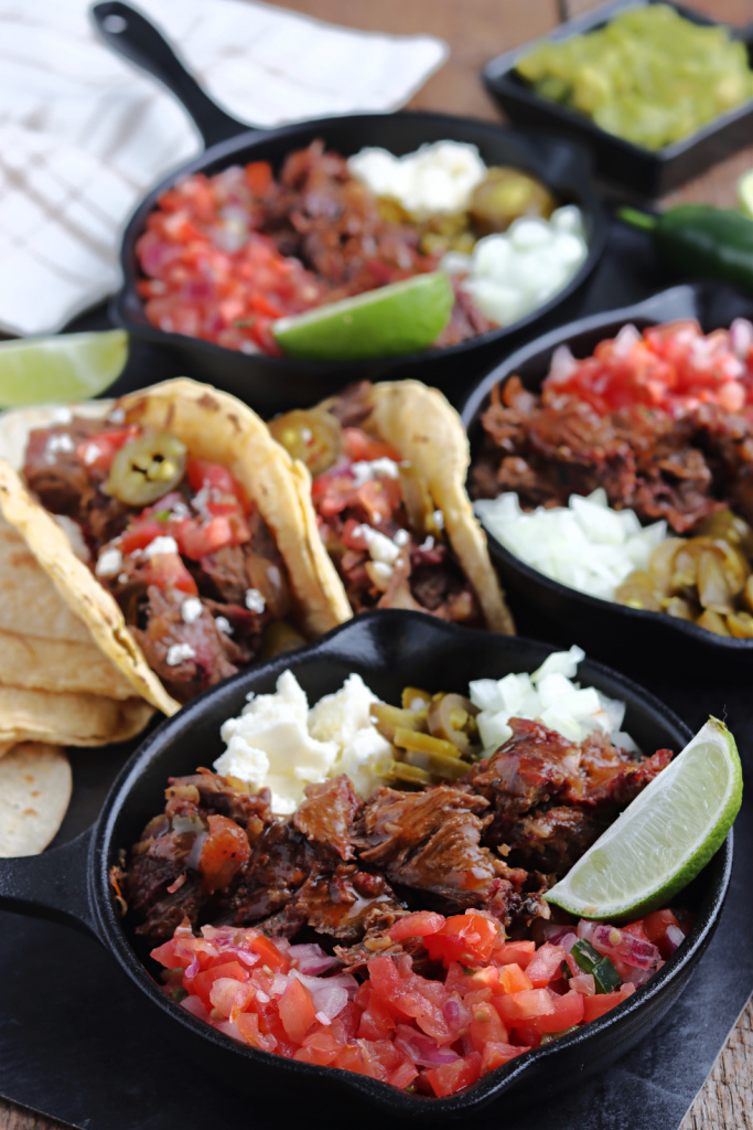
M 142 200 L 129 221 L 121 251 L 124 281 L 112 303 L 112 318 L 133 337 L 176 353 L 189 375 L 211 381 L 259 411 L 269 414 L 284 408 L 307 407 L 361 377 L 413 376 L 443 389 L 450 397 L 463 394 L 469 381 L 499 357 L 505 339 L 564 302 L 585 281 L 603 251 L 605 214 L 592 185 L 590 157 L 586 149 L 577 145 L 546 133 L 516 132 L 449 114 L 352 114 L 274 130 L 253 128 L 216 106 L 185 71 L 157 29 L 133 8 L 107 0 L 95 5 L 91 14 L 108 46 L 149 71 L 180 98 L 207 146 L 205 153 L 165 177 Z M 135 244 L 157 198 L 192 173 L 211 175 L 229 165 L 251 160 L 269 160 L 279 169 L 290 151 L 304 148 L 316 138 L 323 138 L 329 148 L 344 156 L 357 153 L 364 146 L 382 146 L 402 155 L 428 141 L 452 139 L 471 142 L 479 147 L 487 164 L 523 168 L 548 184 L 559 200 L 578 205 L 585 218 L 588 258 L 558 295 L 509 327 L 445 349 L 380 360 L 350 364 L 249 356 L 152 327 L 135 290 L 139 278 Z

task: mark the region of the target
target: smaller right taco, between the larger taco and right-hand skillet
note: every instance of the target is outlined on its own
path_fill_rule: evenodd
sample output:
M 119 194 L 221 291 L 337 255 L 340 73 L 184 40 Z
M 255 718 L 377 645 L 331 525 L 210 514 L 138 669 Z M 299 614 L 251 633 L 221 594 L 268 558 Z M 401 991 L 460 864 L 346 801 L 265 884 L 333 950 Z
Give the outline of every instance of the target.
M 515 631 L 465 490 L 467 437 L 440 392 L 362 382 L 270 431 L 313 476 L 319 533 L 353 612 L 410 608 Z

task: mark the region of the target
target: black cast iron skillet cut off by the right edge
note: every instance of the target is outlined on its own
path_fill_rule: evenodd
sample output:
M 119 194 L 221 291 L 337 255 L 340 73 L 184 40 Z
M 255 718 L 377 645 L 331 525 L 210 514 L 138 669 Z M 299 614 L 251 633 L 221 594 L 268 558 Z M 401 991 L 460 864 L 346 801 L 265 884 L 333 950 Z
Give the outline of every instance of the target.
M 491 390 L 517 374 L 523 384 L 537 392 L 549 373 L 552 354 L 568 345 L 576 357 L 588 357 L 599 341 L 613 338 L 631 322 L 639 330 L 677 319 L 697 319 L 704 332 L 728 327 L 735 318 L 753 320 L 753 299 L 732 287 L 699 282 L 672 287 L 622 310 L 583 318 L 560 327 L 507 357 L 479 382 L 462 408 L 471 441 L 472 460 L 483 438 L 481 416 Z M 736 672 L 753 667 L 753 640 L 715 635 L 689 620 L 664 612 L 628 608 L 611 600 L 590 597 L 553 581 L 527 565 L 487 530 L 489 553 L 508 591 L 523 605 L 524 616 L 535 609 L 557 625 L 589 654 L 613 659 L 619 649 L 620 666 L 631 669 L 662 666 L 665 670 L 698 672 L 709 662 L 715 671 Z M 548 632 L 548 638 L 551 632 Z M 744 664 L 744 668 L 741 668 Z

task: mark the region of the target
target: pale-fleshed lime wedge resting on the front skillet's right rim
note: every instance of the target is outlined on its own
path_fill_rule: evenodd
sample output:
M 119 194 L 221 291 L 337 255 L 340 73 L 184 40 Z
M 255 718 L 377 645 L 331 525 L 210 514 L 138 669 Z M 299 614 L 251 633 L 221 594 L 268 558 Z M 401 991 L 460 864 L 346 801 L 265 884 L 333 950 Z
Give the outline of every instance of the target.
M 711 718 L 544 898 L 608 921 L 666 906 L 720 846 L 742 799 L 735 739 Z

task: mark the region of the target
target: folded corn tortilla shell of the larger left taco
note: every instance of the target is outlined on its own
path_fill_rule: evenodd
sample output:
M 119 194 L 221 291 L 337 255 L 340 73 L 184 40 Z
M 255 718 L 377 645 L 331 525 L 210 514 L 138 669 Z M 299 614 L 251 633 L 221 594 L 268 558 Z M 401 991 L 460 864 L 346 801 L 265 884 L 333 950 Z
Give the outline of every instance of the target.
M 308 636 L 321 635 L 350 617 L 342 585 L 316 532 L 310 477 L 272 440 L 251 408 L 187 377 L 132 393 L 116 406 L 128 423 L 169 429 L 192 455 L 221 463 L 238 479 L 274 534 L 298 619 Z M 71 411 L 104 416 L 112 407 L 111 402 L 72 406 Z M 9 457 L 0 459 L 0 510 L 70 611 L 84 621 L 89 642 L 115 664 L 132 693 L 174 714 L 180 704 L 150 670 L 116 601 L 78 559 L 65 532 L 17 473 L 29 431 L 61 421 L 55 411 L 60 409 L 21 409 L 0 419 L 0 455 Z M 1 620 L 0 627 L 12 631 Z

